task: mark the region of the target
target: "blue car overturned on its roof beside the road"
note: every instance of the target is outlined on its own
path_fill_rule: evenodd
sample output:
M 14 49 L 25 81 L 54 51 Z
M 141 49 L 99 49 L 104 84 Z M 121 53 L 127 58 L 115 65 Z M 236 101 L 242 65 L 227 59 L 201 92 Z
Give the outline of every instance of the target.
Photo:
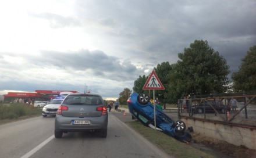
M 130 113 L 145 126 L 155 128 L 154 105 L 149 102 L 147 94 L 131 94 L 127 100 Z M 190 142 L 191 135 L 186 131 L 183 121 L 173 121 L 162 110 L 155 108 L 156 129 L 181 142 Z

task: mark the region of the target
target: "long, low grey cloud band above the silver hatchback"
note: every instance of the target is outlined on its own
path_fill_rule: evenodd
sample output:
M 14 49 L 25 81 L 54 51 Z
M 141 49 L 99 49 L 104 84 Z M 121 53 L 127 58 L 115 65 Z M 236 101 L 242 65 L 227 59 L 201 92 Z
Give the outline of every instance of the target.
M 134 80 L 134 76 L 144 73 L 130 61 L 121 62 L 115 56 L 106 55 L 102 51 L 81 50 L 79 52 L 41 51 L 40 56 L 27 56 L 28 63 L 36 66 L 56 66 L 59 69 L 74 73 L 75 71 L 91 70 L 95 76 L 116 81 Z M 73 70 L 73 72 L 70 70 Z

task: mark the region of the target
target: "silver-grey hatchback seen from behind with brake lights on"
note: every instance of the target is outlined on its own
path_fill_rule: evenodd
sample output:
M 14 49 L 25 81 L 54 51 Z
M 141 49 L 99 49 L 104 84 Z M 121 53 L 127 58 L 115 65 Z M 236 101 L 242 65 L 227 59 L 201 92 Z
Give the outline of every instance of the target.
M 97 131 L 106 138 L 108 111 L 101 95 L 69 94 L 59 106 L 55 117 L 55 138 L 63 132 Z

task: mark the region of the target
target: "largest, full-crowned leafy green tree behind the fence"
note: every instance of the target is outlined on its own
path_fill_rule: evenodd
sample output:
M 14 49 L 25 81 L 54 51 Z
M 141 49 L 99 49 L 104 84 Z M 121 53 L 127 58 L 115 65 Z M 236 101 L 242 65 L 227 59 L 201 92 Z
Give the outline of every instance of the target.
M 168 87 L 172 99 L 227 91 L 229 66 L 207 41 L 195 40 L 178 56 L 180 60 L 173 64 Z

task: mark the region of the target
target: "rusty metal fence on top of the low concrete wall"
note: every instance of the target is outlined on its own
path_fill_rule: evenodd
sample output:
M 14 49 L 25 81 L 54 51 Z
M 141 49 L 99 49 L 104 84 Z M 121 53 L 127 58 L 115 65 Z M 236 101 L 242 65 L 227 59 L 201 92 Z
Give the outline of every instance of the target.
M 237 100 L 236 110 L 231 108 L 229 111 L 230 99 L 232 98 Z M 222 103 L 223 105 L 226 104 L 225 112 L 221 113 L 216 108 L 216 105 L 208 104 L 212 113 L 208 113 L 205 109 L 202 110 L 202 113 L 197 113 L 195 110 L 197 105 L 200 103 L 202 105 L 203 102 L 209 102 L 209 100 L 214 100 L 215 103 Z M 183 107 L 184 102 L 186 102 L 186 109 Z M 248 125 L 256 128 L 256 95 L 180 99 L 178 100 L 177 106 L 179 117 L 188 117 L 205 121 L 218 121 L 225 124 Z M 192 107 L 195 107 L 195 109 Z

